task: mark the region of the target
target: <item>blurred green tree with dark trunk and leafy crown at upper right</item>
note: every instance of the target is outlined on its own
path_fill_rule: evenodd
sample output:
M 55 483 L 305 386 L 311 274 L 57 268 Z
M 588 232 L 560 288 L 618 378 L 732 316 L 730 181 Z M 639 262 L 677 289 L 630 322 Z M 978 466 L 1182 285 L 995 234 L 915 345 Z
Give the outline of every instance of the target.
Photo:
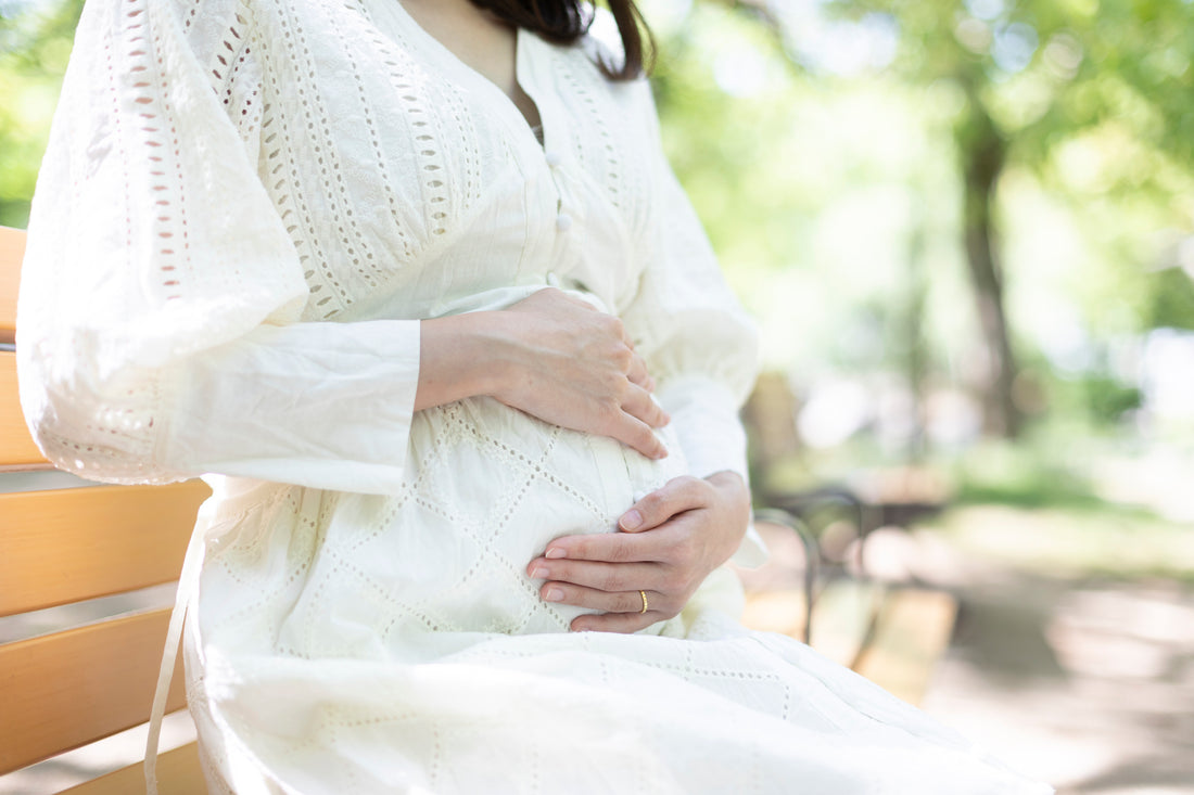
M 731 4 L 789 39 L 787 51 L 816 73 L 801 50 L 789 4 Z M 858 26 L 887 24 L 898 49 L 890 66 L 910 86 L 952 86 L 960 98 L 952 138 L 961 175 L 961 238 L 985 352 L 984 418 L 991 433 L 1015 436 L 1017 375 L 1005 309 L 998 191 L 1013 167 L 1055 187 L 1057 155 L 1082 136 L 1128 141 L 1096 192 L 1180 196 L 1194 166 L 1194 4 L 1186 0 L 832 0 L 824 13 Z M 799 20 L 798 23 L 799 24 Z M 1181 178 L 1175 179 L 1175 174 Z M 1081 191 L 1082 201 L 1091 191 Z M 1096 197 L 1097 198 L 1097 197 Z M 1188 205 L 1175 224 L 1192 226 Z M 1175 319 L 1194 296 L 1181 272 L 1151 281 L 1143 314 Z M 1164 282 L 1164 283 L 1163 283 Z M 1182 297 L 1175 298 L 1174 289 Z

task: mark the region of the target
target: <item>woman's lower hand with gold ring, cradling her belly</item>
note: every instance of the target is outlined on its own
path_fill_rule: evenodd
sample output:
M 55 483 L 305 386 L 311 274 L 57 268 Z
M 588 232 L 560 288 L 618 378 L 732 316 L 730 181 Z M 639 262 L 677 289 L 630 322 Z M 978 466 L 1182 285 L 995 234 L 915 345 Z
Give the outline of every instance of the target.
M 678 615 L 738 549 L 749 522 L 750 492 L 740 475 L 685 475 L 630 506 L 618 519 L 622 532 L 556 538 L 527 572 L 546 580 L 546 602 L 601 611 L 574 618 L 573 630 L 633 633 Z

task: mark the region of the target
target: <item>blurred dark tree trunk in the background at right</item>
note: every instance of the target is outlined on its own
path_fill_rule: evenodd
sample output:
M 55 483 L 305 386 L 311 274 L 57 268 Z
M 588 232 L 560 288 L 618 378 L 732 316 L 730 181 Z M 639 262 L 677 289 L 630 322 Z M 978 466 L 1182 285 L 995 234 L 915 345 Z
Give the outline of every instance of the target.
M 1016 360 L 1011 351 L 1003 309 L 1003 276 L 996 247 L 992 216 L 995 190 L 1007 156 L 1003 136 L 986 109 L 973 94 L 967 121 L 956 130 L 964 177 L 964 235 L 966 263 L 983 333 L 983 430 L 1013 438 L 1020 432 L 1021 414 L 1013 400 Z

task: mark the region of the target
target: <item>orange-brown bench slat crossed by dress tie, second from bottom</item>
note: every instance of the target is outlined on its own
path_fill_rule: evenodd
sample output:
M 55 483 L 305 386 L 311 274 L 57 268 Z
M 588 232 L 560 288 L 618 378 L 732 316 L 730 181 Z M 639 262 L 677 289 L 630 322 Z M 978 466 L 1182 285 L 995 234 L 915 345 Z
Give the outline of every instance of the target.
M 149 719 L 170 610 L 0 646 L 0 775 Z M 186 704 L 181 655 L 167 710 Z

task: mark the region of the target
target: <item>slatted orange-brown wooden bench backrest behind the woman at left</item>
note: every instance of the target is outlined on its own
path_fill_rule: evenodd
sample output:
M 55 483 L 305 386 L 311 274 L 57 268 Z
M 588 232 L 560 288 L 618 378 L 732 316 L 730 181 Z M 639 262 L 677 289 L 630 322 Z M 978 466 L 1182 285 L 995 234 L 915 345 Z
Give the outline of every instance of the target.
M 0 228 L 0 344 L 13 340 L 23 252 L 24 233 Z M 20 414 L 16 355 L 2 347 L 0 470 L 49 468 Z M 208 493 L 201 481 L 0 493 L 0 616 L 177 580 Z M 0 645 L 0 775 L 143 723 L 168 618 L 147 610 Z M 179 666 L 167 710 L 184 705 Z

